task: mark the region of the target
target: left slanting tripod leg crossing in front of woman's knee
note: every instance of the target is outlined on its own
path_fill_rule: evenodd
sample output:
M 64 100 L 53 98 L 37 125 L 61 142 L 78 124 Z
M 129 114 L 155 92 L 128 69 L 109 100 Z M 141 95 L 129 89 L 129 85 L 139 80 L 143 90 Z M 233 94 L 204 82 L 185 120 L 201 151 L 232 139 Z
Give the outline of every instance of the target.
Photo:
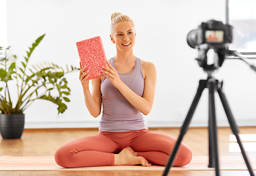
M 189 123 L 191 122 L 191 119 L 193 117 L 193 114 L 194 114 L 194 111 L 196 110 L 197 108 L 197 104 L 201 98 L 201 95 L 202 95 L 202 91 L 205 89 L 206 87 L 206 81 L 205 80 L 200 80 L 200 84 L 198 86 L 198 89 L 197 89 L 197 94 L 195 95 L 194 97 L 194 100 L 189 108 L 189 112 L 188 114 L 186 115 L 186 119 L 185 121 L 183 122 L 183 125 L 182 127 L 180 128 L 180 136 L 178 137 L 178 140 L 175 144 L 175 147 L 174 149 L 172 150 L 172 155 L 170 155 L 169 157 L 169 161 L 164 169 L 164 174 L 163 176 L 167 176 L 168 175 L 168 172 L 169 172 L 169 169 L 170 167 L 172 166 L 172 163 L 173 161 L 175 160 L 175 156 L 178 152 L 178 149 L 180 147 L 180 143 L 183 139 L 183 136 L 185 135 L 186 131 L 188 131 L 188 128 L 189 128 Z

